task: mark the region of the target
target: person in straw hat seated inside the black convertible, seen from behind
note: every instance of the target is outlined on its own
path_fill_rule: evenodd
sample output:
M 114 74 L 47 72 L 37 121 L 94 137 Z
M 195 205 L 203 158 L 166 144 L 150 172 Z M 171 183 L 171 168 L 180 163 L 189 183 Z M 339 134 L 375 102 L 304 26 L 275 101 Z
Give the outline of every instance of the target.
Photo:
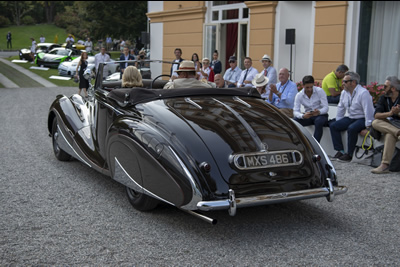
M 178 78 L 168 82 L 164 86 L 164 89 L 212 88 L 212 86 L 208 83 L 204 83 L 196 79 L 196 69 L 193 61 L 182 61 L 176 73 L 178 73 Z

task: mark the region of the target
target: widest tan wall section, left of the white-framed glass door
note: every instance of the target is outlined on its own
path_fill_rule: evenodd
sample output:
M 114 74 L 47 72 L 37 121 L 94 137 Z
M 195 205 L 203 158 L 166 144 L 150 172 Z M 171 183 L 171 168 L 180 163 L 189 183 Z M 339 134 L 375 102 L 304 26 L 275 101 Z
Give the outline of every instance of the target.
M 204 1 L 164 1 L 164 11 L 147 13 L 150 23 L 163 22 L 163 60 L 175 59 L 175 48 L 182 49 L 182 58 L 191 60 L 203 51 Z M 170 74 L 171 66 L 163 64 L 163 74 Z

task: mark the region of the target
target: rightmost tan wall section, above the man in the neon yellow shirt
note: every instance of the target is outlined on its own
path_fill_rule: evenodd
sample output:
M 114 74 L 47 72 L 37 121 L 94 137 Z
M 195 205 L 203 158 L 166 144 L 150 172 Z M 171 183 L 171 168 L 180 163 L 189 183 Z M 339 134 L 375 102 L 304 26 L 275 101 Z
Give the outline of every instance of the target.
M 316 81 L 344 63 L 347 1 L 317 1 L 313 76 Z

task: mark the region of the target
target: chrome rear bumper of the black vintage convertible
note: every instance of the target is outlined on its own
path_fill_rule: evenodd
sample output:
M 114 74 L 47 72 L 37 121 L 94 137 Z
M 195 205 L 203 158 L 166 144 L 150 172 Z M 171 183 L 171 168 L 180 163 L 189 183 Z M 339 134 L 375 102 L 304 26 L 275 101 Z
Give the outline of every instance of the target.
M 327 180 L 329 184 L 328 187 L 259 195 L 254 197 L 235 198 L 235 192 L 233 190 L 229 190 L 228 199 L 200 201 L 197 203 L 197 208 L 202 211 L 228 210 L 229 214 L 234 216 L 236 214 L 236 208 L 276 204 L 318 197 L 326 197 L 328 201 L 331 202 L 333 201 L 335 195 L 341 195 L 347 192 L 346 186 L 333 186 L 331 180 L 329 178 Z

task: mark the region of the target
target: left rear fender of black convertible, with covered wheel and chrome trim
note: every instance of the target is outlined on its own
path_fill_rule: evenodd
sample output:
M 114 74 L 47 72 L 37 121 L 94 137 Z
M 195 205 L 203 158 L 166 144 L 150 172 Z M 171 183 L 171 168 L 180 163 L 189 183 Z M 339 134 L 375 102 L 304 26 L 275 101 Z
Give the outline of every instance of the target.
M 209 198 L 200 167 L 188 163 L 179 148 L 140 120 L 123 116 L 115 120 L 109 128 L 107 151 L 113 178 L 134 190 L 193 209 L 198 201 Z M 115 176 L 121 168 L 123 176 Z

